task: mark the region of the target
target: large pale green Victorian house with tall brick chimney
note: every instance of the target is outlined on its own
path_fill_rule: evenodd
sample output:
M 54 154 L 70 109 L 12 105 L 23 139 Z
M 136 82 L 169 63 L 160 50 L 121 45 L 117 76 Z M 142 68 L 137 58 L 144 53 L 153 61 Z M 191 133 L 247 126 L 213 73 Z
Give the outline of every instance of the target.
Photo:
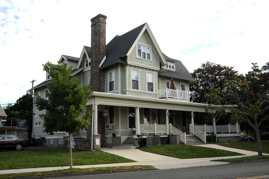
M 87 129 L 73 134 L 77 147 L 119 146 L 136 134 L 164 138 L 180 134 L 184 141 L 178 129 L 195 130 L 193 112 L 204 112 L 204 104 L 190 102 L 189 84 L 196 80 L 181 61 L 162 53 L 147 23 L 116 35 L 106 45 L 106 18 L 99 14 L 91 19 L 91 47 L 84 46 L 79 58 L 62 55 L 59 60 L 73 67 L 71 77 L 82 78 L 81 86 L 90 84 L 94 92 L 86 105 L 88 110 L 94 109 L 93 120 Z M 46 81 L 28 91 L 47 98 L 49 79 L 47 74 Z M 175 89 L 170 89 L 173 84 Z M 42 132 L 43 121 L 38 115 L 43 112 L 34 107 L 33 137 L 46 137 L 48 146 L 66 144 L 65 132 L 53 136 Z

